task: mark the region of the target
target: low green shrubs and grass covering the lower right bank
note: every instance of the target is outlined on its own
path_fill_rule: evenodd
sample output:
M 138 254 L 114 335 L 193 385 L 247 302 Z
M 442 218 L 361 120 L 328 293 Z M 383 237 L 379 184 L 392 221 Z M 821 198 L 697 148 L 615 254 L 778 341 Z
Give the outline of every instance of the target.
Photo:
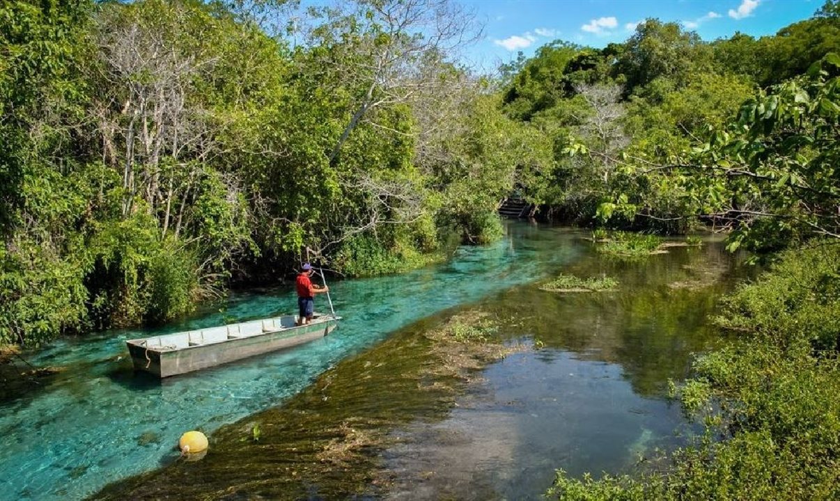
M 783 254 L 727 297 L 717 323 L 738 338 L 697 359 L 678 391 L 702 439 L 664 472 L 558 471 L 549 498 L 840 498 L 840 245 Z

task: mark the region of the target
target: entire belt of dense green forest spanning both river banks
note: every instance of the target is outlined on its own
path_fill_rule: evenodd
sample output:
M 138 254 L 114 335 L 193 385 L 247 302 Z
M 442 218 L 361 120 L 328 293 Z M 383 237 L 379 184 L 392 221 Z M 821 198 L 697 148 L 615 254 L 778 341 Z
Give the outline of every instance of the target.
M 501 234 L 513 190 L 731 248 L 837 237 L 837 14 L 713 42 L 648 19 L 486 76 L 447 0 L 3 3 L 0 342 L 171 320 L 302 259 L 427 264 Z

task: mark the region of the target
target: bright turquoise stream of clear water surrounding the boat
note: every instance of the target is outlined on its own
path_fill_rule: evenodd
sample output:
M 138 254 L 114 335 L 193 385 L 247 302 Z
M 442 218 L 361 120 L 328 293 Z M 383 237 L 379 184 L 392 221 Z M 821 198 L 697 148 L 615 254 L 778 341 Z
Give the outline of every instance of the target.
M 281 404 L 340 359 L 391 331 L 446 308 L 480 300 L 553 272 L 580 257 L 575 232 L 526 224 L 485 248 L 459 248 L 451 262 L 408 274 L 330 284 L 344 316 L 329 337 L 286 352 L 163 382 L 134 374 L 124 341 L 294 311 L 288 289 L 237 294 L 224 313 L 158 330 L 113 331 L 66 340 L 29 354 L 36 366 L 62 366 L 44 389 L 0 404 L 0 498 L 72 499 L 160 467 L 178 436 L 211 432 Z M 325 301 L 316 307 L 323 311 Z

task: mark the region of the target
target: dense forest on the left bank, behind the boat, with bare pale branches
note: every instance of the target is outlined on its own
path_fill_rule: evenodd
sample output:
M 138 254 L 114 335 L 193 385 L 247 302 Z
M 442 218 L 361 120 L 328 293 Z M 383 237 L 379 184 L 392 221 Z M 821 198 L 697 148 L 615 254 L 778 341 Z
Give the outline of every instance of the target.
M 296 7 L 3 3 L 0 342 L 167 321 L 302 259 L 387 273 L 501 232 L 496 203 L 549 144 L 453 62 L 472 14 L 359 2 L 296 27 Z

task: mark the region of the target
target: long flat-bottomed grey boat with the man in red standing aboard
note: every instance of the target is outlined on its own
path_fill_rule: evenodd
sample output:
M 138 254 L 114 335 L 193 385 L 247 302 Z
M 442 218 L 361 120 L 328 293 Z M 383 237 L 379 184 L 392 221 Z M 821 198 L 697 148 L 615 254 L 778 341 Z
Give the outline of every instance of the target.
M 333 331 L 341 317 L 315 314 L 305 326 L 296 326 L 296 320 L 277 316 L 125 343 L 135 369 L 167 378 L 313 341 Z

